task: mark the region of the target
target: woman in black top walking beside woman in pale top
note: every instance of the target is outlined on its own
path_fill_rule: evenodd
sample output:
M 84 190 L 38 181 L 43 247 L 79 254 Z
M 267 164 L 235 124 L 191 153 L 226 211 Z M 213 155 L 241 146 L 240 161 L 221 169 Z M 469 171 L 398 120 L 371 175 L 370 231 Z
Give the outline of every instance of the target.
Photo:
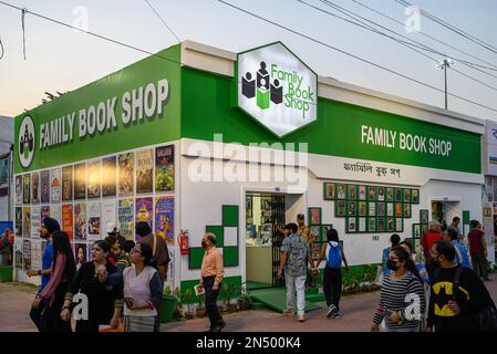
M 81 293 L 83 301 L 76 301 L 76 332 L 99 332 L 100 324 L 111 324 L 113 329 L 118 325 L 121 310 L 123 308 L 123 284 L 107 285 L 99 281 L 99 277 L 117 272 L 115 266 L 107 262 L 111 246 L 107 241 L 93 243 L 92 262 L 84 263 L 74 277 L 65 295 L 61 316 L 65 321 L 71 320 L 71 304 L 74 294 Z M 84 319 L 87 304 L 87 317 Z

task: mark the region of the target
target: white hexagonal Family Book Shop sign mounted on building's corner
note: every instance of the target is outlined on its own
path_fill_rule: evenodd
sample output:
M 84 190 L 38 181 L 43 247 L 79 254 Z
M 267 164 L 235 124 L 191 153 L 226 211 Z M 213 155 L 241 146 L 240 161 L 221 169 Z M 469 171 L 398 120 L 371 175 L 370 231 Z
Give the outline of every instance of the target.
M 317 119 L 318 75 L 282 43 L 238 54 L 238 106 L 282 137 Z

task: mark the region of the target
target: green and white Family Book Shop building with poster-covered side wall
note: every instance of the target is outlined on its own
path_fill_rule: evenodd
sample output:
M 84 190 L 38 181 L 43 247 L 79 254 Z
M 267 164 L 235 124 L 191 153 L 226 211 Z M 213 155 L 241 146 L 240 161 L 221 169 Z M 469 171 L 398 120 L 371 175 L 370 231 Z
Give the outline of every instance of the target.
M 237 55 L 184 42 L 15 118 L 14 277 L 40 267 L 45 215 L 86 260 L 108 226 L 133 239 L 148 221 L 182 290 L 206 231 L 227 282 L 275 284 L 273 231 L 298 214 L 320 240 L 332 225 L 360 272 L 394 232 L 482 219 L 484 131 L 318 77 L 281 43 Z

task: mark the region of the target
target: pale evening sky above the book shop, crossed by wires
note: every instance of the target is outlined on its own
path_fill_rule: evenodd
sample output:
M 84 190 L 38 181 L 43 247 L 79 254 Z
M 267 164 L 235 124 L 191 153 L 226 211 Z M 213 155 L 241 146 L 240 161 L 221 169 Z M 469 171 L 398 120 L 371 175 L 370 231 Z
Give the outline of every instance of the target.
M 145 0 L 2 0 L 20 8 L 69 24 L 87 24 L 87 30 L 118 40 L 148 52 L 158 52 L 178 42 Z M 231 52 L 282 41 L 314 72 L 346 83 L 444 107 L 444 94 L 395 76 L 354 60 L 324 45 L 250 17 L 217 0 L 148 0 L 180 41 L 193 40 Z M 444 88 L 444 73 L 436 62 L 398 43 L 318 11 L 298 0 L 226 0 L 376 64 Z M 319 0 L 302 0 L 328 12 L 336 13 Z M 432 35 L 477 59 L 435 42 L 422 33 L 408 33 L 404 25 L 374 13 L 356 1 L 404 23 L 410 20 L 405 7 L 395 0 L 329 0 L 369 20 L 422 42 L 449 58 L 454 69 L 484 82 L 470 81 L 448 71 L 448 91 L 467 100 L 495 108 L 490 111 L 457 98 L 448 98 L 451 111 L 483 119 L 497 121 L 497 53 L 469 42 L 463 37 L 421 17 L 422 33 Z M 493 0 L 417 0 L 413 4 L 456 25 L 465 32 L 497 46 L 497 1 Z M 86 15 L 87 14 L 87 15 Z M 82 21 L 86 20 L 86 21 Z M 415 22 L 408 22 L 415 23 Z M 27 14 L 23 59 L 21 12 L 0 3 L 0 40 L 4 55 L 0 60 L 0 115 L 15 116 L 46 98 L 44 92 L 73 91 L 148 54 L 124 48 L 89 34 Z M 496 51 L 497 52 L 497 51 Z M 426 53 L 435 60 L 443 55 Z M 1 56 L 1 49 L 0 49 Z M 480 73 L 458 60 L 494 71 Z M 478 61 L 486 61 L 488 64 Z M 494 76 L 490 76 L 494 75 Z

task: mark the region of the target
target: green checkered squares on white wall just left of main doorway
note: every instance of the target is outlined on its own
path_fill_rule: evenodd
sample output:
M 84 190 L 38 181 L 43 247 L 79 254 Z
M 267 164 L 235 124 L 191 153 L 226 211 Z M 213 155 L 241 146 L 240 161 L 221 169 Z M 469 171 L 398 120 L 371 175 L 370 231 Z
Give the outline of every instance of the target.
M 222 252 L 225 267 L 239 266 L 238 206 L 222 206 L 222 225 L 207 225 L 206 232 L 216 235 L 216 247 Z M 200 269 L 205 250 L 201 247 L 189 249 L 188 268 Z

